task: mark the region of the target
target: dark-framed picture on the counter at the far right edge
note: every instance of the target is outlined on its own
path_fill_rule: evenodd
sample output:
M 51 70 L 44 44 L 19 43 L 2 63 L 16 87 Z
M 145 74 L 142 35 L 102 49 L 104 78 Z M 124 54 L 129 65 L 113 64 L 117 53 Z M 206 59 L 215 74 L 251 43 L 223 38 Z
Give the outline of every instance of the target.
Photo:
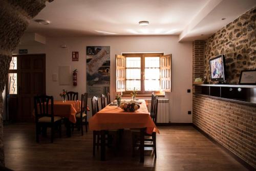
M 256 70 L 241 71 L 239 84 L 256 85 Z

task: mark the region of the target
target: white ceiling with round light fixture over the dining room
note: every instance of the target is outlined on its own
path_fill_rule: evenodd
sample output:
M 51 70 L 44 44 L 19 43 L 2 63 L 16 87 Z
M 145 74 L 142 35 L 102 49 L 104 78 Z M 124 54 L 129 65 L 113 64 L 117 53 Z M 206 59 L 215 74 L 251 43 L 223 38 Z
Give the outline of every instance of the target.
M 214 33 L 255 5 L 255 0 L 54 0 L 33 18 L 50 20 L 50 25 L 31 20 L 27 32 L 45 36 L 180 35 L 181 41 L 191 41 L 200 34 Z M 218 11 L 221 8 L 226 12 Z M 212 17 L 214 29 L 206 27 Z M 150 25 L 139 26 L 140 20 Z

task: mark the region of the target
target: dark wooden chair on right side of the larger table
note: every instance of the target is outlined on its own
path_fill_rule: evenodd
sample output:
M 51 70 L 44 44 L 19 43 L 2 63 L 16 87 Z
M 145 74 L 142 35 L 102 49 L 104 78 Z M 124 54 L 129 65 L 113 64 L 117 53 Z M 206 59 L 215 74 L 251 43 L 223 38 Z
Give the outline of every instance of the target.
M 158 97 L 157 96 L 153 96 L 153 100 L 152 100 L 152 111 L 151 111 L 151 118 L 153 119 L 154 123 L 157 123 L 157 108 L 158 108 Z M 131 129 L 132 131 L 132 143 L 133 143 L 133 156 L 135 153 L 135 147 L 139 147 L 140 144 L 138 142 L 140 139 L 140 129 Z M 154 149 L 154 154 L 155 154 L 155 158 L 157 158 L 157 148 L 156 148 L 156 133 L 153 132 L 152 135 L 150 134 L 145 134 L 145 138 L 144 141 L 146 142 L 144 144 L 144 147 L 153 147 Z M 153 142 L 152 144 L 147 144 L 147 142 Z

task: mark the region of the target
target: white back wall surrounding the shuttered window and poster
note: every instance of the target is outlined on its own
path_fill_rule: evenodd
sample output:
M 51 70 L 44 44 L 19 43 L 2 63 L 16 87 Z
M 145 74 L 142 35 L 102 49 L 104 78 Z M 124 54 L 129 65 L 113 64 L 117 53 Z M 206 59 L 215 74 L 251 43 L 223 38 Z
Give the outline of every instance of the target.
M 87 37 L 47 37 L 46 45 L 19 46 L 29 53 L 46 53 L 46 92 L 60 99 L 62 89 L 86 92 L 86 47 L 110 46 L 111 50 L 111 94 L 115 95 L 115 55 L 124 52 L 164 52 L 172 54 L 172 93 L 169 98 L 170 122 L 192 122 L 192 43 L 178 42 L 178 36 L 87 36 Z M 67 49 L 60 48 L 67 45 Z M 17 49 L 14 53 L 17 53 Z M 72 61 L 72 51 L 79 52 L 79 61 Z M 58 66 L 70 65 L 78 70 L 78 85 L 59 86 L 52 81 L 52 74 L 58 73 Z

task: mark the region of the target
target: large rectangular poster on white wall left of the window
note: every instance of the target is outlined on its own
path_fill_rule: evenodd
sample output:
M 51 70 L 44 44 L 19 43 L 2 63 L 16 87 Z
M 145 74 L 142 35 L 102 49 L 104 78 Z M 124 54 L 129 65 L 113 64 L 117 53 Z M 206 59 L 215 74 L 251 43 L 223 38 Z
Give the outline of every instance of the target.
M 88 97 L 110 92 L 110 46 L 86 48 L 86 76 Z

